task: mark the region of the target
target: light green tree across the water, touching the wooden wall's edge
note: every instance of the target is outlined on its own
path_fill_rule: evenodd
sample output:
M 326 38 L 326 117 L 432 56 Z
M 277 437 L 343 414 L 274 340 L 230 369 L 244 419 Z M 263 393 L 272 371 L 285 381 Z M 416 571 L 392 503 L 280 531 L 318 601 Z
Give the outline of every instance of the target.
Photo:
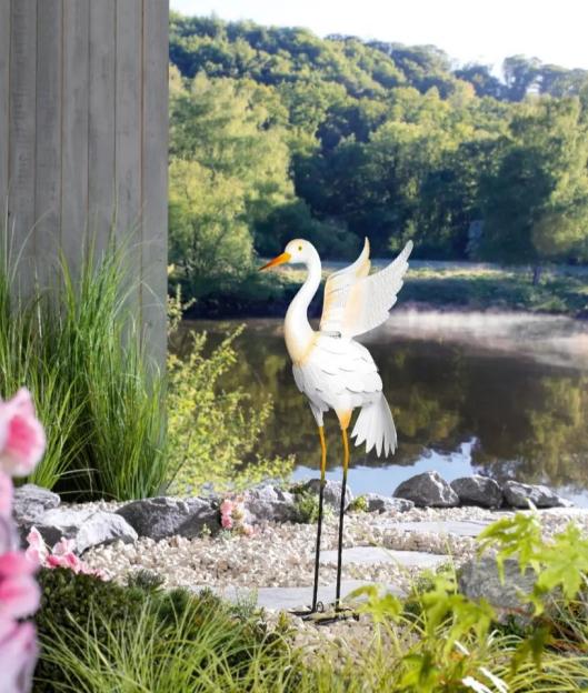
M 170 235 L 192 295 L 242 277 L 258 228 L 271 232 L 267 219 L 293 199 L 286 117 L 275 94 L 250 82 L 199 74 L 173 97 Z

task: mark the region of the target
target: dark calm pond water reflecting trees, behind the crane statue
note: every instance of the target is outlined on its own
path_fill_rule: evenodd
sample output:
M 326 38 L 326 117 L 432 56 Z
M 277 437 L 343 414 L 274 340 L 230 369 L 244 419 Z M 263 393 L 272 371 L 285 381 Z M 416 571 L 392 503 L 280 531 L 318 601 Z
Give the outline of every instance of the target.
M 282 321 L 197 321 L 211 342 L 238 324 L 239 363 L 226 386 L 270 394 L 273 418 L 265 453 L 295 453 L 295 479 L 317 473 L 315 420 L 293 383 Z M 387 460 L 352 449 L 356 494 L 391 494 L 412 474 L 437 470 L 448 481 L 480 473 L 546 483 L 588 506 L 588 324 L 525 313 L 392 311 L 362 338 L 380 369 L 398 430 Z M 328 478 L 340 478 L 333 414 L 326 432 Z

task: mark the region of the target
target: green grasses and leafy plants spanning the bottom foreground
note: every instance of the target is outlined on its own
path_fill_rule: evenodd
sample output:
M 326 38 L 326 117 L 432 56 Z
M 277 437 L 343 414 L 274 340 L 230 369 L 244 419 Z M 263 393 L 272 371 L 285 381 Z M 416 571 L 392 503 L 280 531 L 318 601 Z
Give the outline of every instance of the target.
M 574 525 L 542 540 L 534 514 L 488 528 L 482 549 L 534 568 L 521 609 L 497 614 L 457 587 L 451 570 L 418 581 L 406 599 L 363 587 L 371 637 L 312 654 L 283 620 L 270 633 L 251 609 L 211 594 L 131 587 L 66 571 L 42 572 L 37 691 L 106 693 L 529 693 L 588 686 L 588 544 Z M 72 603 L 76 600 L 76 603 Z M 525 601 L 528 603 L 525 604 Z M 320 631 L 319 631 L 320 635 Z M 51 683 L 43 679 L 49 677 Z M 43 674 L 44 673 L 44 674 Z

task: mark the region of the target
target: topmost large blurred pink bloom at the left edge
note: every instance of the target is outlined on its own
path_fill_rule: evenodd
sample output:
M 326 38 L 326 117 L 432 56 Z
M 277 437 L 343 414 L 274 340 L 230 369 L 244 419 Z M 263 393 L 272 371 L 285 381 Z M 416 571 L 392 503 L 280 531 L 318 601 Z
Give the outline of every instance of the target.
M 12 476 L 29 474 L 41 459 L 44 444 L 30 392 L 21 388 L 11 400 L 0 400 L 0 471 Z

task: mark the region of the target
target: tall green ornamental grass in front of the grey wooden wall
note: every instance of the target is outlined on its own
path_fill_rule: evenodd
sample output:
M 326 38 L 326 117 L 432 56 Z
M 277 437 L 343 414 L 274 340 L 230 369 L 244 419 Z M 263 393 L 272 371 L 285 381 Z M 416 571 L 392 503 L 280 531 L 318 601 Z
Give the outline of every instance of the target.
M 27 385 L 48 436 L 29 481 L 118 500 L 156 494 L 167 478 L 161 378 L 131 319 L 126 253 L 87 249 L 54 284 L 17 299 L 18 262 L 0 250 L 0 395 Z

